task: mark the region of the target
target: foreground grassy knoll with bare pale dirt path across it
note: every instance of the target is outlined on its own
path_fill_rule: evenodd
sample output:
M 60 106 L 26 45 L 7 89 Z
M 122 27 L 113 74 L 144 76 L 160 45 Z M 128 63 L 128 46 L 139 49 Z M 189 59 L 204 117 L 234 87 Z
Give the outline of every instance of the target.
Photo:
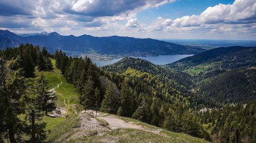
M 94 111 L 95 116 L 95 111 Z M 52 142 L 209 142 L 185 133 L 170 132 L 131 118 L 90 111 L 63 121 L 49 134 Z M 78 120 L 79 119 L 79 120 Z M 76 122 L 72 127 L 69 124 Z M 78 122 L 78 123 L 77 123 Z M 60 132 L 60 133 L 59 133 Z

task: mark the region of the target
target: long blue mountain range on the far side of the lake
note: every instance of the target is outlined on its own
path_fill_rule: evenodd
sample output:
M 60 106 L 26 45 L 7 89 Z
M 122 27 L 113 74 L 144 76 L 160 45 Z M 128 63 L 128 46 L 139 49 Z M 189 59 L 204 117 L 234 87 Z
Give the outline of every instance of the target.
M 5 40 L 6 39 L 6 40 Z M 160 54 L 195 54 L 204 51 L 202 48 L 178 45 L 174 43 L 133 37 L 93 37 L 82 35 L 75 37 L 61 36 L 56 32 L 21 37 L 9 31 L 0 30 L 0 48 L 32 43 L 47 47 L 50 51 L 61 49 L 76 52 L 96 52 L 100 54 L 120 54 L 133 56 L 160 55 Z

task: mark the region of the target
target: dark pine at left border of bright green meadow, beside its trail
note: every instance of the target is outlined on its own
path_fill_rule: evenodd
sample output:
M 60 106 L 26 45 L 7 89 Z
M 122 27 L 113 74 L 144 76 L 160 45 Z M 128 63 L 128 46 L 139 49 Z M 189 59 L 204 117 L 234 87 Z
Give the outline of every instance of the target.
M 47 87 L 48 81 L 45 79 L 44 74 L 41 74 L 38 80 L 37 92 L 38 92 L 38 102 L 40 105 L 40 110 L 45 111 L 48 115 L 49 111 L 56 109 L 56 99 L 54 91 L 48 91 Z

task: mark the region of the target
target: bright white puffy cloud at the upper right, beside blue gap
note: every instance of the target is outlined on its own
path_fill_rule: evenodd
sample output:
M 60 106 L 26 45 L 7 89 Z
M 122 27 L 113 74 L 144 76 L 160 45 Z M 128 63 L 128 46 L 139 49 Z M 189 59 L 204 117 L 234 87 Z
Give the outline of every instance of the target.
M 256 22 L 256 1 L 236 0 L 232 5 L 219 4 L 208 7 L 200 15 L 183 16 L 174 20 L 175 26 L 200 26 L 216 23 L 254 23 Z

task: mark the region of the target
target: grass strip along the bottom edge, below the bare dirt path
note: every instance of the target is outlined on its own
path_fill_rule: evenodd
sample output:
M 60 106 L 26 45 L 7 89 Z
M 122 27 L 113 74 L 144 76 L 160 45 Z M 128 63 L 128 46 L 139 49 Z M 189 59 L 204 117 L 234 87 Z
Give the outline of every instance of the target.
M 191 137 L 182 133 L 170 133 L 167 135 L 155 134 L 152 132 L 134 130 L 134 129 L 115 129 L 113 132 L 106 131 L 101 136 L 84 136 L 80 138 L 70 139 L 69 143 L 80 142 L 208 142 L 200 138 Z

